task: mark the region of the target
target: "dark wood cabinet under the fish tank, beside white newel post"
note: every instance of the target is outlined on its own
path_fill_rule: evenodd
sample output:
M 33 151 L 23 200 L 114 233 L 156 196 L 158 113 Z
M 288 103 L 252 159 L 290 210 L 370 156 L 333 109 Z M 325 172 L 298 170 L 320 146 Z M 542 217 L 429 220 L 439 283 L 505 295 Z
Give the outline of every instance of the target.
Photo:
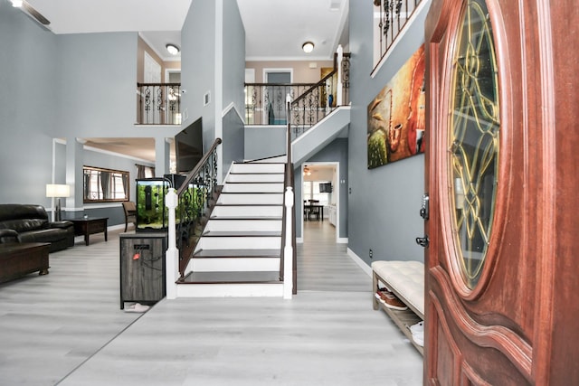
M 121 233 L 120 309 L 125 302 L 154 304 L 166 296 L 166 232 Z

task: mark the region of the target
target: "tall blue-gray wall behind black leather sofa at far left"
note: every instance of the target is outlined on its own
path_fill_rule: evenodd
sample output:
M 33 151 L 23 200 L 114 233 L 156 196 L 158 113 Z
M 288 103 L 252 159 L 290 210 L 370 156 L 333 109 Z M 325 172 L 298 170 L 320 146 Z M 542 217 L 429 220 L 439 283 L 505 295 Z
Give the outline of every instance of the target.
M 56 37 L 0 2 L 0 202 L 46 207 L 57 110 Z M 17 144 L 17 146 L 15 146 Z

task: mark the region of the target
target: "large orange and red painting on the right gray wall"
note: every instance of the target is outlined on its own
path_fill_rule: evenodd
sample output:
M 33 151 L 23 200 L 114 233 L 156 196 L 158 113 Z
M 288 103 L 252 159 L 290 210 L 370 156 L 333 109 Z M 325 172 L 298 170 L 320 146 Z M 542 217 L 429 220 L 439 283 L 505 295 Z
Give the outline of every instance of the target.
M 368 105 L 368 169 L 424 151 L 424 45 Z

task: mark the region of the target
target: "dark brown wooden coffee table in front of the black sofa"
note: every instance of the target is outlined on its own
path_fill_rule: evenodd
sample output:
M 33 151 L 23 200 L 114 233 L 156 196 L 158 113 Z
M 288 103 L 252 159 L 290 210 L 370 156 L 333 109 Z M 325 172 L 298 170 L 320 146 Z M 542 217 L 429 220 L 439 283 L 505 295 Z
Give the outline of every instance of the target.
M 0 244 L 0 283 L 39 271 L 48 274 L 50 242 L 9 242 Z

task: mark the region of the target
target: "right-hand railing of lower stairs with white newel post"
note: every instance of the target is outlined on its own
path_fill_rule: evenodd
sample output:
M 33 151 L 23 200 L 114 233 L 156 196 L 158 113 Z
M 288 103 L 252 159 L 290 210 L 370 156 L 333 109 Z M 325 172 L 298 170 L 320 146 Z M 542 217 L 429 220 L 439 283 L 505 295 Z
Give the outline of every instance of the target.
M 291 129 L 289 125 L 289 107 L 291 97 L 287 96 L 288 128 L 286 132 L 287 160 L 284 177 L 283 222 L 281 225 L 281 260 L 280 279 L 283 280 L 283 297 L 290 299 L 298 293 L 298 270 L 296 249 L 296 211 L 294 210 L 294 174 L 291 162 Z

